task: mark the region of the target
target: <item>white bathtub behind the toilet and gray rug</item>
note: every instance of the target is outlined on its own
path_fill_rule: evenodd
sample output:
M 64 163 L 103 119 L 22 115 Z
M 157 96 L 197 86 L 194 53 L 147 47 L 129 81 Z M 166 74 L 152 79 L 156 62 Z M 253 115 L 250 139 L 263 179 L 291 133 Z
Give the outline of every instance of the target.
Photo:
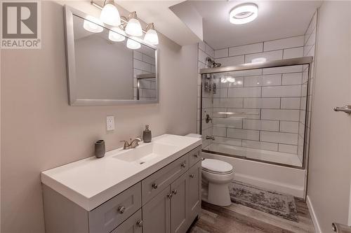
M 212 147 L 211 147 L 212 146 Z M 229 162 L 234 167 L 234 180 L 244 183 L 250 183 L 261 188 L 284 192 L 295 197 L 305 198 L 305 169 L 296 169 L 293 167 L 283 167 L 266 162 L 246 160 L 245 157 L 230 157 L 227 155 L 217 155 L 206 150 L 214 150 L 230 155 L 241 155 L 257 160 L 274 160 L 275 162 L 300 162 L 297 155 L 276 152 L 268 150 L 257 150 L 249 148 L 240 148 L 237 146 L 227 146 L 213 143 L 210 147 L 204 148 L 202 157 Z M 284 155 L 286 154 L 286 155 Z M 298 161 L 297 161 L 297 160 Z

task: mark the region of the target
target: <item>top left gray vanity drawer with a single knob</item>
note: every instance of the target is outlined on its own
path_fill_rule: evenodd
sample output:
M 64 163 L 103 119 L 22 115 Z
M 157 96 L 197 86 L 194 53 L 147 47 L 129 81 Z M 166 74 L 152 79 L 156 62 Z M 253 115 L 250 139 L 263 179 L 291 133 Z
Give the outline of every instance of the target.
M 90 233 L 109 233 L 141 207 L 141 184 L 108 200 L 88 213 Z

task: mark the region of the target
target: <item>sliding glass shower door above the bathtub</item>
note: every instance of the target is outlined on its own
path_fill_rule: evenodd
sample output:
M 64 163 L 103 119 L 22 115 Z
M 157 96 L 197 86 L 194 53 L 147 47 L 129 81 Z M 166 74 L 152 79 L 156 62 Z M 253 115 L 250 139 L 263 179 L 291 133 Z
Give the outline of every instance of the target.
M 303 167 L 308 65 L 205 73 L 201 81 L 205 151 Z

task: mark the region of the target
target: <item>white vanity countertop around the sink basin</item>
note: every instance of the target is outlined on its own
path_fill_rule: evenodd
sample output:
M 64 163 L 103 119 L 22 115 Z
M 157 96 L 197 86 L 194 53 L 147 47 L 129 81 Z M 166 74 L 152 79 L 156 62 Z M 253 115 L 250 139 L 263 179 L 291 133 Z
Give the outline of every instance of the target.
M 105 157 L 100 159 L 88 157 L 43 171 L 41 182 L 87 211 L 91 211 L 131 185 L 200 146 L 201 139 L 164 134 L 153 138 L 152 143 L 169 145 L 171 150 L 166 150 L 161 155 L 151 157 L 147 162 L 139 164 L 119 160 L 118 158 L 123 157 L 125 153 L 135 150 L 119 148 L 107 152 Z M 143 147 L 147 148 L 148 144 L 150 143 L 140 143 L 138 148 L 143 150 Z

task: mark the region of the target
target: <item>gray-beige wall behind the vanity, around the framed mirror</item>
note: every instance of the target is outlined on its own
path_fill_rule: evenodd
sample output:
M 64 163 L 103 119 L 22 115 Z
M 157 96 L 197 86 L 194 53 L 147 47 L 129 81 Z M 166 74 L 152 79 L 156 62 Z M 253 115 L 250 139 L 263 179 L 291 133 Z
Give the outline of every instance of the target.
M 69 4 L 100 12 L 89 1 Z M 1 51 L 2 233 L 44 233 L 40 172 L 93 155 L 94 141 L 113 150 L 145 124 L 154 136 L 196 132 L 197 46 L 161 34 L 159 104 L 69 106 L 61 5 L 42 1 L 41 50 Z M 115 116 L 114 132 L 106 132 L 107 115 Z

